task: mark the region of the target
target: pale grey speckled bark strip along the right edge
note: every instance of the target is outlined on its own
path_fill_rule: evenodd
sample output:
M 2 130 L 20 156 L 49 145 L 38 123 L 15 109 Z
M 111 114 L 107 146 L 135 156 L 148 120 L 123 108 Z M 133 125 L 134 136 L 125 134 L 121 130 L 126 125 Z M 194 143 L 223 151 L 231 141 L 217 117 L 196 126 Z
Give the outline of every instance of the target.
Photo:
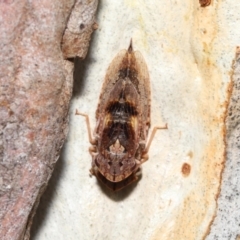
M 226 163 L 216 218 L 207 240 L 240 239 L 240 47 L 233 65 L 233 87 L 226 118 Z

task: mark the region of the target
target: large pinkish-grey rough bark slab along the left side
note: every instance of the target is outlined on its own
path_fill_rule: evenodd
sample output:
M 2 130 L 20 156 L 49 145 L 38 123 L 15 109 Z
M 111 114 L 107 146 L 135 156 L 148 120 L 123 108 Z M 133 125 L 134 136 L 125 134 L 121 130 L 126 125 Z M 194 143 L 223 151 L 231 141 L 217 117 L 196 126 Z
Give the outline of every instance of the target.
M 0 3 L 0 239 L 29 239 L 67 134 L 73 64 L 64 61 L 61 41 L 73 6 Z

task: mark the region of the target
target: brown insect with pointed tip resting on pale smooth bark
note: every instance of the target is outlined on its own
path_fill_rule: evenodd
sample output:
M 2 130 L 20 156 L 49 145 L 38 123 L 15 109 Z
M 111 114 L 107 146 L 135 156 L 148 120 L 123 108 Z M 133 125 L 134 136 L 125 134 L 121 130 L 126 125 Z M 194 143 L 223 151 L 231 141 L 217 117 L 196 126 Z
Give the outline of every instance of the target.
M 147 142 L 150 128 L 150 82 L 147 65 L 139 51 L 122 50 L 110 64 L 96 111 L 94 137 L 86 117 L 92 175 L 113 191 L 138 179 L 140 166 L 148 160 L 148 150 L 158 129 Z

